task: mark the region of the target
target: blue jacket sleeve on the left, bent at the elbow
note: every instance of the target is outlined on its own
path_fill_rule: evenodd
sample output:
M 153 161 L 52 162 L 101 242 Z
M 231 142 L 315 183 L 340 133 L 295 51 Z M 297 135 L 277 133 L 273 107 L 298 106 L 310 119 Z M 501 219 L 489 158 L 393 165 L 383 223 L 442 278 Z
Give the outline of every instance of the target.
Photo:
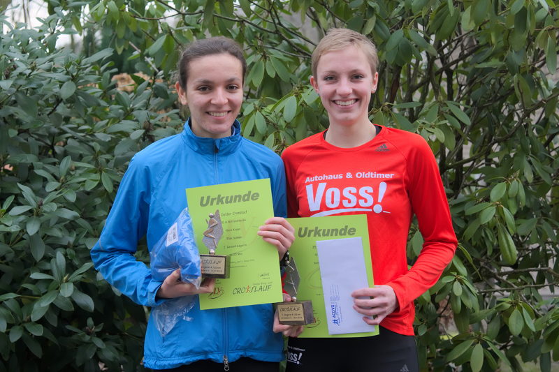
M 155 298 L 162 282 L 154 281 L 150 268 L 134 257 L 138 240 L 147 230 L 151 191 L 147 169 L 135 160 L 122 178 L 91 256 L 108 283 L 137 304 L 155 306 L 165 301 Z

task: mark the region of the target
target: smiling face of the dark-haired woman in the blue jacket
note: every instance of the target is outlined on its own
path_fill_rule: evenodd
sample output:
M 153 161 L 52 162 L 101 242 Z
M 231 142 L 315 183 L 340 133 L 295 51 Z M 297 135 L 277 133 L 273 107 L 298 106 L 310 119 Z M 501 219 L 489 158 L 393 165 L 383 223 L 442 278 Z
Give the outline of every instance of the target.
M 180 103 L 188 105 L 198 137 L 231 135 L 242 104 L 242 65 L 231 54 L 210 54 L 189 62 L 186 91 L 176 84 Z

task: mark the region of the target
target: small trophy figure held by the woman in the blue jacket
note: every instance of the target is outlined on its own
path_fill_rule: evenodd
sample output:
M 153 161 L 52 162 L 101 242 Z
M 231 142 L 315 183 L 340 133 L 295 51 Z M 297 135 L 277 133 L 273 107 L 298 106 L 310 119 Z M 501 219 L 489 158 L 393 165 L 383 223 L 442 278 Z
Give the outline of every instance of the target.
M 200 255 L 200 268 L 203 278 L 226 279 L 229 277 L 229 267 L 231 266 L 229 256 L 215 254 L 217 244 L 222 235 L 222 218 L 219 216 L 219 209 L 217 209 L 215 214 L 210 213 L 208 230 L 205 230 L 204 237 L 202 238 L 203 244 L 210 251 L 209 255 Z

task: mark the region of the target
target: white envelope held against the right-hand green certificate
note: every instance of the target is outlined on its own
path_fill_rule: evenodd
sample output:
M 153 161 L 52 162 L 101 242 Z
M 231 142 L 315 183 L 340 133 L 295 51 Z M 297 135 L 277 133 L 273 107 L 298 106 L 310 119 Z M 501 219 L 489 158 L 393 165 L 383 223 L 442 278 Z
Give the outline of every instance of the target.
M 351 292 L 369 286 L 361 237 L 317 241 L 329 334 L 375 332 L 354 310 Z

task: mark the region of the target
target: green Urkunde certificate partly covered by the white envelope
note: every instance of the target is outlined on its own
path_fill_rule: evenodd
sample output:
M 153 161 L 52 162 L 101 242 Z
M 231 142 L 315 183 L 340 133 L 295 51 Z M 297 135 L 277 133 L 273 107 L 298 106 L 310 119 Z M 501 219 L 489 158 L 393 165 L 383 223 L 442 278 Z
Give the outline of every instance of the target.
M 314 323 L 306 325 L 305 330 L 299 337 L 363 337 L 378 334 L 378 327 L 376 327 L 377 330 L 375 332 L 352 334 L 328 333 L 317 253 L 318 240 L 361 237 L 365 270 L 367 271 L 367 279 L 371 287 L 373 280 L 367 216 L 356 214 L 351 216 L 288 218 L 287 220 L 295 228 L 295 241 L 291 248 L 289 248 L 289 254 L 295 258 L 300 276 L 297 299 L 299 301 L 312 301 L 314 312 Z

